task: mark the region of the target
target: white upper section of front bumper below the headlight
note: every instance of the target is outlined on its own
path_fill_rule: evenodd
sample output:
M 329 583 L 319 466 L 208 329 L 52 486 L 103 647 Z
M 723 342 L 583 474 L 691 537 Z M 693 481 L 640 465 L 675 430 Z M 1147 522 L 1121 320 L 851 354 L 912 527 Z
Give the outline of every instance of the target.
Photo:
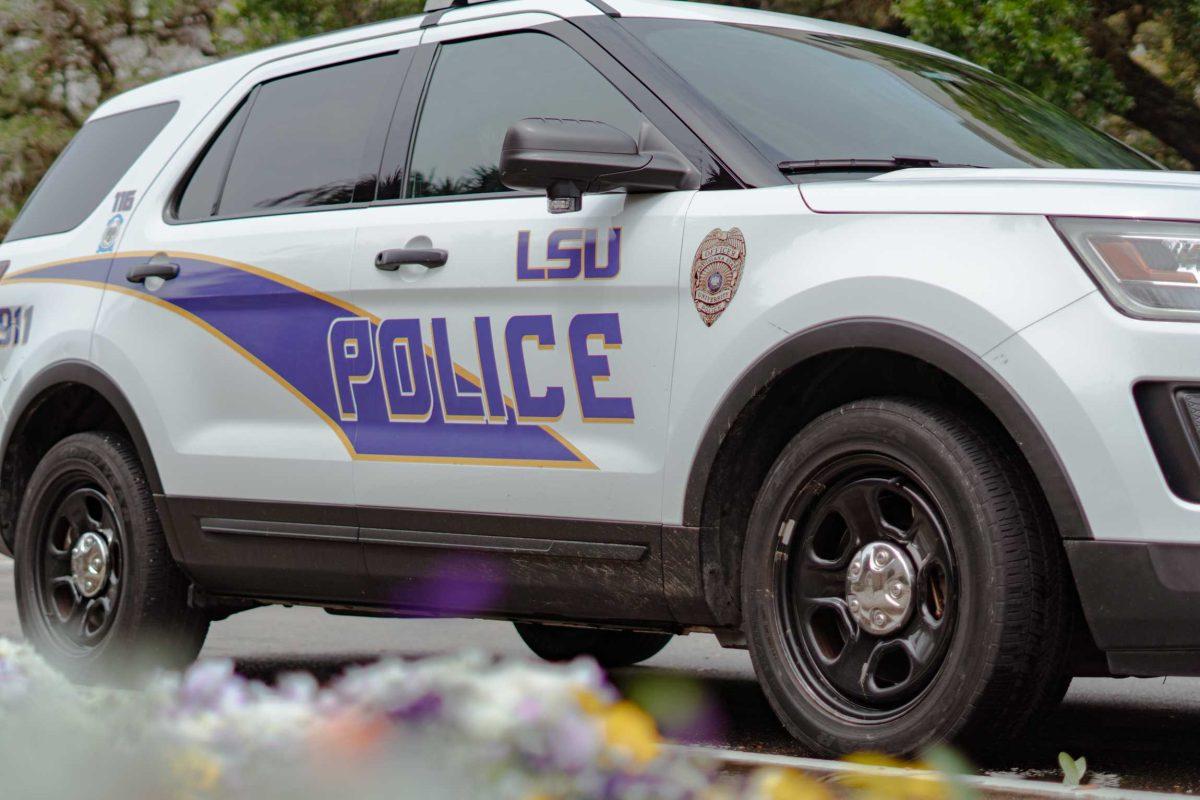
M 985 354 L 1044 432 L 1086 519 L 1079 537 L 1200 546 L 1200 503 L 1172 491 L 1135 399 L 1200 385 L 1200 323 L 1123 317 L 1092 293 Z

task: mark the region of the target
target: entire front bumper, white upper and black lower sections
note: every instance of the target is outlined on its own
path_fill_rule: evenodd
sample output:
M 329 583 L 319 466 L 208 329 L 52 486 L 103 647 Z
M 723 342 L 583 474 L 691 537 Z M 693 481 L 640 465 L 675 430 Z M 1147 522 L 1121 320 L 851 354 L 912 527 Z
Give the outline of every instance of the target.
M 1200 324 L 1130 319 L 1096 293 L 985 360 L 1027 404 L 1075 492 L 1086 530 L 1064 545 L 1110 670 L 1200 675 L 1200 501 L 1169 477 L 1135 399 L 1147 385 L 1200 386 Z M 1200 461 L 1168 416 L 1177 459 Z

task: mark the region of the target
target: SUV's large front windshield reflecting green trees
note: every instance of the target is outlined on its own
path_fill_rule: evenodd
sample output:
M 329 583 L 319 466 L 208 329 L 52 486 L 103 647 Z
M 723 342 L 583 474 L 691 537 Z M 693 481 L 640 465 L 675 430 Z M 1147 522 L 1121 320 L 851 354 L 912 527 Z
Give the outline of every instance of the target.
M 774 163 L 914 156 L 979 167 L 1158 168 L 952 59 L 779 28 L 622 22 Z

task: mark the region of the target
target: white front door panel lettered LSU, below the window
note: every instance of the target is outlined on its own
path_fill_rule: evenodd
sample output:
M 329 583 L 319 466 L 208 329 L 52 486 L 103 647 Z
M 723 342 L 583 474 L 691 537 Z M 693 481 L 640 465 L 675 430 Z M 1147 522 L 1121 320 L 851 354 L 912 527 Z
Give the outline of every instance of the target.
M 373 515 L 365 527 L 412 529 L 414 509 L 527 518 L 524 529 L 546 518 L 541 535 L 551 539 L 562 537 L 553 518 L 650 523 L 640 528 L 649 534 L 647 559 L 608 565 L 602 575 L 618 589 L 643 569 L 660 577 L 649 557 L 658 552 L 690 197 L 588 197 L 569 227 L 546 211 L 545 198 L 364 213 L 349 296 L 372 317 L 344 324 L 359 326 L 358 341 L 374 354 L 343 359 L 335 372 L 358 414 L 356 492 L 364 515 Z M 376 269 L 377 253 L 414 240 L 446 249 L 445 266 Z M 601 528 L 590 533 L 602 540 Z M 437 569 L 415 560 L 410 547 L 365 547 L 368 569 L 390 593 L 394 579 L 420 582 Z M 515 554 L 479 559 L 508 571 L 499 583 L 511 603 L 493 597 L 500 604 L 492 610 L 520 610 L 562 569 L 550 557 L 527 566 Z M 569 593 L 558 599 L 560 613 L 588 608 Z

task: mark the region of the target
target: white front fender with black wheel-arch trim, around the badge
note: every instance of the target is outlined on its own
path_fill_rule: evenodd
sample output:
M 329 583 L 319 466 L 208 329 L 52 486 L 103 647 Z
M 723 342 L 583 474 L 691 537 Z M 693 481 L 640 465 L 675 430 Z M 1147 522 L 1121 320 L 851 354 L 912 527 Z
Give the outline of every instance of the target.
M 700 524 L 725 434 L 774 377 L 830 350 L 877 348 L 932 363 L 972 391 L 1033 465 L 1062 534 L 1088 536 L 1037 417 L 985 362 L 1096 290 L 1044 217 L 812 213 L 778 188 L 713 194 L 701 193 L 689 212 L 684 271 L 690 243 L 714 227 L 737 225 L 748 255 L 738 294 L 712 327 L 692 323 L 690 308 L 680 317 L 668 524 Z

